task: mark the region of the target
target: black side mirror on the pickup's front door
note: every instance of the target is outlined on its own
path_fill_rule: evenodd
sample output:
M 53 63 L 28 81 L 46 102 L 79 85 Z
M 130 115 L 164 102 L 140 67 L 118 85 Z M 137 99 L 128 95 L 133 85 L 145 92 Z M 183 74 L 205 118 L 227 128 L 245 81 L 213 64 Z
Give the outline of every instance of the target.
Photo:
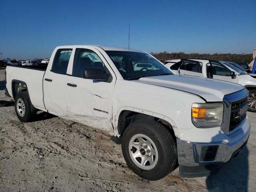
M 100 68 L 84 70 L 84 79 L 107 81 L 109 76 L 110 74 L 107 74 L 105 70 Z

